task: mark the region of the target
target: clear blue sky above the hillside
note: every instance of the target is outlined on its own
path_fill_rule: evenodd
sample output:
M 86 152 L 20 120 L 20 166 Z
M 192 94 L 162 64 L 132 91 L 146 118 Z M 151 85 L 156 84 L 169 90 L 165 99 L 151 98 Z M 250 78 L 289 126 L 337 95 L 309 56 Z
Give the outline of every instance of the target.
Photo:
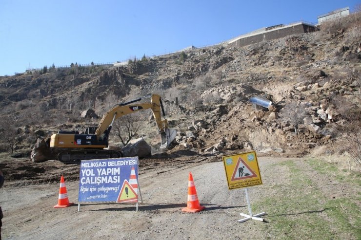
M 0 75 L 202 47 L 360 0 L 0 0 Z

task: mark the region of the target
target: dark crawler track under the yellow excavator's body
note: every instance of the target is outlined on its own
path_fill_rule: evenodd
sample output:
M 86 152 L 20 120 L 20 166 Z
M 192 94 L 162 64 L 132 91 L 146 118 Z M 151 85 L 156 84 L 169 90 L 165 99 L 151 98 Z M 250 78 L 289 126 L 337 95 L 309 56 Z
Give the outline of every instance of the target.
M 62 151 L 58 155 L 58 160 L 64 164 L 79 164 L 81 160 L 118 157 L 121 157 L 121 153 L 119 151 L 103 149 L 82 149 Z

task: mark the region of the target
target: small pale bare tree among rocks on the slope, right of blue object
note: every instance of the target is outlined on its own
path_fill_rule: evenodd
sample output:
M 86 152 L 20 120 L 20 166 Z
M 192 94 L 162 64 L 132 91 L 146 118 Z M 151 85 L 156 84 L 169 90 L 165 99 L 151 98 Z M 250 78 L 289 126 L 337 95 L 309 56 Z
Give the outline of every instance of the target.
M 287 104 L 281 111 L 281 117 L 288 121 L 298 134 L 298 127 L 303 124 L 303 118 L 306 116 L 306 106 L 303 103 L 291 102 Z

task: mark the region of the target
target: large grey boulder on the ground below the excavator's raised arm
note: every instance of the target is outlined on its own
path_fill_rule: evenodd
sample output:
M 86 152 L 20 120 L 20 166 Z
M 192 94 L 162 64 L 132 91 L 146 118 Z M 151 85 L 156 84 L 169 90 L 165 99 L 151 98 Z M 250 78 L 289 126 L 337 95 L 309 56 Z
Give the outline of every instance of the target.
M 143 138 L 131 140 L 122 150 L 124 157 L 144 158 L 152 155 L 151 147 L 144 141 Z

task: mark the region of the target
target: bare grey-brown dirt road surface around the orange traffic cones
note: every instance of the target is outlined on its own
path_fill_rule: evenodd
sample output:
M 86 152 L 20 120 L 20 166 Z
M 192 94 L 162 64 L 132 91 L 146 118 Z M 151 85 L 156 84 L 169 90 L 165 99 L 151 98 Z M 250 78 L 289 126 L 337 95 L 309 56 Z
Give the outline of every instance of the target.
M 59 183 L 19 185 L 0 189 L 4 211 L 4 239 L 234 239 L 244 238 L 261 222 L 237 223 L 248 213 L 243 189 L 229 191 L 220 159 L 203 163 L 189 158 L 186 164 L 153 164 L 140 169 L 143 203 L 74 204 L 55 209 Z M 275 160 L 260 159 L 260 167 Z M 277 160 L 279 161 L 279 160 Z M 181 162 L 181 161 L 180 161 Z M 207 161 L 205 161 L 207 162 Z M 146 169 L 146 170 L 144 170 Z M 198 214 L 181 212 L 186 205 L 188 174 L 192 172 L 201 205 Z M 66 178 L 66 175 L 65 175 Z M 66 181 L 66 179 L 65 179 Z M 77 203 L 77 181 L 66 181 L 69 200 Z M 255 200 L 261 187 L 248 188 Z M 252 233 L 253 234 L 253 233 Z M 256 237 L 256 236 L 254 236 Z

